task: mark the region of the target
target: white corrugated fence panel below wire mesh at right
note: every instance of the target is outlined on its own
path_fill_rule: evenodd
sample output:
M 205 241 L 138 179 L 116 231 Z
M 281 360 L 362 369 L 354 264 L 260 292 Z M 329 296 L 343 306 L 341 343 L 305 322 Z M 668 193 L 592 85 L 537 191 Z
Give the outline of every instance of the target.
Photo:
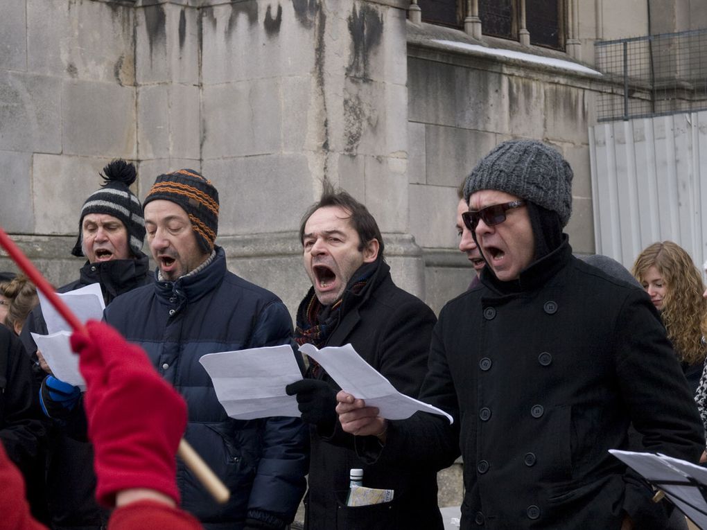
M 597 254 L 630 269 L 642 249 L 671 240 L 702 271 L 707 111 L 598 124 L 589 142 Z

